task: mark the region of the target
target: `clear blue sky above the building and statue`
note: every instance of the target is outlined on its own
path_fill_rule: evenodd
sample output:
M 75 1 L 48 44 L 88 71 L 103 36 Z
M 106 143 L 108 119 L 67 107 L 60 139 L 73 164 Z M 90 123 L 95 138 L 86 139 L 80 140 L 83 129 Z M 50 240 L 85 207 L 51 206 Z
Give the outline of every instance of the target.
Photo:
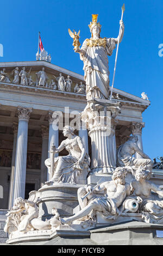
M 73 52 L 71 30 L 80 29 L 80 42 L 90 37 L 91 14 L 99 14 L 101 36 L 117 37 L 121 7 L 125 32 L 118 53 L 115 87 L 136 96 L 146 92 L 151 106 L 143 112 L 143 148 L 152 159 L 163 156 L 162 96 L 163 44 L 162 0 L 5 0 L 1 1 L 0 43 L 4 47 L 1 62 L 35 60 L 37 36 L 41 32 L 43 47 L 51 53 L 52 63 L 83 75 L 83 62 Z M 110 81 L 116 51 L 109 57 Z

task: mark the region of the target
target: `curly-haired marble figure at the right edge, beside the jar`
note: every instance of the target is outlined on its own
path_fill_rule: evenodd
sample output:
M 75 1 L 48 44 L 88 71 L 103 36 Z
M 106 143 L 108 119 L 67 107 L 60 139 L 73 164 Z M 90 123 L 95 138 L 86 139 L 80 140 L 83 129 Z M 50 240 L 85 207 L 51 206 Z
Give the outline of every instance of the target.
M 151 172 L 143 167 L 136 170 L 135 180 L 131 181 L 133 196 L 141 198 L 142 220 L 148 223 L 163 224 L 163 191 L 150 181 Z M 153 193 L 153 192 L 155 193 Z

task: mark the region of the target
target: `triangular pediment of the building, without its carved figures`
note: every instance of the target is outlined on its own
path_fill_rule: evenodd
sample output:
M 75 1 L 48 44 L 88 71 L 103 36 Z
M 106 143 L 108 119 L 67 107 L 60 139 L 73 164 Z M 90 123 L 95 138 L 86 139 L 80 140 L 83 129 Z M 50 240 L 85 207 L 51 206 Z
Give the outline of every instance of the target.
M 3 70 L 3 68 L 5 68 L 5 72 L 8 74 L 9 79 L 10 79 L 10 83 L 7 82 L 8 86 L 10 84 L 13 84 L 13 80 L 14 80 L 14 75 L 12 74 L 12 71 L 18 67 L 18 71 L 20 72 L 22 70 L 23 67 L 26 68 L 26 71 L 29 72 L 30 71 L 30 76 L 32 77 L 32 81 L 33 84 L 32 86 L 27 86 L 28 90 L 30 89 L 41 89 L 40 92 L 42 91 L 42 89 L 44 88 L 46 90 L 46 93 L 48 94 L 49 92 L 52 92 L 54 90 L 52 90 L 49 87 L 37 87 L 36 88 L 36 79 L 37 79 L 37 75 L 36 73 L 39 72 L 40 70 L 42 70 L 42 68 L 45 68 L 45 72 L 47 74 L 47 84 L 49 85 L 51 83 L 52 80 L 55 81 L 55 83 L 57 84 L 57 80 L 55 79 L 55 77 L 59 77 L 59 74 L 61 73 L 62 76 L 64 76 L 64 78 L 66 79 L 67 76 L 70 76 L 70 79 L 72 80 L 72 84 L 71 84 L 71 92 L 68 92 L 68 94 L 73 97 L 74 94 L 83 97 L 84 100 L 86 100 L 86 96 L 85 93 L 74 93 L 74 87 L 76 86 L 76 84 L 79 84 L 82 82 L 82 84 L 85 85 L 85 81 L 84 81 L 84 77 L 82 75 L 79 75 L 75 72 L 72 72 L 70 70 L 61 68 L 60 66 L 42 61 L 42 60 L 37 60 L 37 61 L 33 61 L 33 62 L 4 62 L 4 63 L 0 63 L 0 72 Z M 2 83 L 2 82 L 0 82 Z M 26 87 L 26 88 L 27 88 Z M 23 90 L 25 90 L 25 87 L 23 88 Z M 60 94 L 60 93 L 64 93 L 64 92 L 60 92 L 57 90 L 55 90 L 56 94 Z M 67 92 L 65 92 L 67 94 Z M 113 96 L 115 97 L 116 100 L 120 100 L 124 105 L 128 104 L 128 105 L 142 105 L 142 107 L 144 109 L 146 109 L 149 105 L 150 105 L 150 101 L 148 100 L 143 100 L 141 97 L 137 97 L 135 95 L 129 94 L 127 92 L 123 92 L 120 89 L 113 89 Z

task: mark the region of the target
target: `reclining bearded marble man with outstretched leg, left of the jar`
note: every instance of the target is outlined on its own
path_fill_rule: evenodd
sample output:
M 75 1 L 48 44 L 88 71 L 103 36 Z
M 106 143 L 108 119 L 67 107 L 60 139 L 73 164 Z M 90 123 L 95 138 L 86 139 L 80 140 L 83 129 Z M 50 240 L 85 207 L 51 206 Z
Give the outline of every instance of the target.
M 108 219 L 115 219 L 121 213 L 121 210 L 118 209 L 119 206 L 126 197 L 130 196 L 130 185 L 126 183 L 126 175 L 125 168 L 117 168 L 112 174 L 112 181 L 102 182 L 94 190 L 91 189 L 91 186 L 87 186 L 86 190 L 79 188 L 78 200 L 81 210 L 71 217 L 59 218 L 60 222 L 70 224 L 75 220 L 83 220 L 83 217 L 89 215 L 92 210 L 102 212 Z M 82 198 L 88 191 L 91 192 L 91 196 L 83 200 Z M 101 192 L 104 195 L 101 195 Z

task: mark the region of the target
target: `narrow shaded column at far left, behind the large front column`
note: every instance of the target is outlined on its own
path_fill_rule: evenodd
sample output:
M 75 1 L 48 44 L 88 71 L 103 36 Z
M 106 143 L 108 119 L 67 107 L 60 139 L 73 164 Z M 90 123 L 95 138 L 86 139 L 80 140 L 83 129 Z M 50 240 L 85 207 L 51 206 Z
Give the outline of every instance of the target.
M 15 171 L 15 156 L 16 156 L 16 143 L 17 143 L 17 130 L 18 124 L 13 123 L 12 125 L 14 132 L 14 143 L 12 149 L 12 161 L 11 161 L 11 175 L 10 175 L 10 188 L 9 188 L 9 200 L 8 200 L 8 209 L 12 207 L 12 196 L 13 196 L 13 185 L 14 185 L 14 171 Z

